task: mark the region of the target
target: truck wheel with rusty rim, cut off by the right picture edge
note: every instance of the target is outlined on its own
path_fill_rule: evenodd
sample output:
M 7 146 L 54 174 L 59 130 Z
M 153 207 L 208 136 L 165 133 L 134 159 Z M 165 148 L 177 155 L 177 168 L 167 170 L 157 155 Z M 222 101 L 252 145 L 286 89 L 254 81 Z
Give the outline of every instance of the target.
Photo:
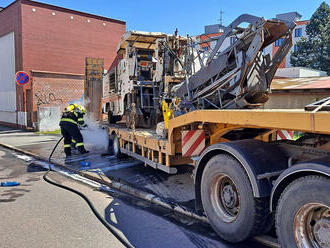
M 276 232 L 281 247 L 330 247 L 330 179 L 305 176 L 281 194 Z

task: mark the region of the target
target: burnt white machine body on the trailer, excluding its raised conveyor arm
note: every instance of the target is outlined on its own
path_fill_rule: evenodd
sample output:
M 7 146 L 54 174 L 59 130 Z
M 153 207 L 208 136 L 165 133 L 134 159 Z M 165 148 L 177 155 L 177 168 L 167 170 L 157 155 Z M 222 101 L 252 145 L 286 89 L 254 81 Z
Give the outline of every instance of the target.
M 129 31 L 123 35 L 117 49 L 118 63 L 104 76 L 110 93 L 106 108 L 110 123 L 123 117 L 127 126 L 133 119 L 135 126 L 151 127 L 157 123 L 161 117 L 159 92 L 168 92 L 172 84 L 184 78 L 177 58 L 183 58 L 186 44 L 187 39 L 177 32 L 168 35 Z

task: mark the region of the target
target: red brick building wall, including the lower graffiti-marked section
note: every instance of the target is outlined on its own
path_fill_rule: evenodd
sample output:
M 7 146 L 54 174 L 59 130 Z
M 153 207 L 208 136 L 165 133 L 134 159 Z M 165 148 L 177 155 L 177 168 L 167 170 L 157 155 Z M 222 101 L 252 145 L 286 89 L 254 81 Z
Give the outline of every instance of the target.
M 21 3 L 23 70 L 58 72 L 32 75 L 32 99 L 27 104 L 32 107 L 27 111 L 36 122 L 38 106 L 61 105 L 63 109 L 81 99 L 83 78 L 65 73 L 84 74 L 85 57 L 104 58 L 108 68 L 116 57 L 126 24 L 28 0 Z M 24 103 L 26 95 L 25 91 L 18 98 Z

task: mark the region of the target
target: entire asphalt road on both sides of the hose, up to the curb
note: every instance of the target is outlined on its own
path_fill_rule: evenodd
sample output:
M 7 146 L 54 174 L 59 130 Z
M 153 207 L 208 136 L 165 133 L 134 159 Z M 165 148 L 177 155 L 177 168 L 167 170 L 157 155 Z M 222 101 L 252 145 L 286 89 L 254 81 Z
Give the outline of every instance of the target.
M 49 185 L 44 171 L 29 166 L 12 151 L 0 148 L 0 247 L 123 247 L 79 196 Z M 118 192 L 100 192 L 51 173 L 57 183 L 83 192 L 116 232 L 134 247 L 263 248 L 248 241 L 228 244 L 209 227 L 154 209 Z

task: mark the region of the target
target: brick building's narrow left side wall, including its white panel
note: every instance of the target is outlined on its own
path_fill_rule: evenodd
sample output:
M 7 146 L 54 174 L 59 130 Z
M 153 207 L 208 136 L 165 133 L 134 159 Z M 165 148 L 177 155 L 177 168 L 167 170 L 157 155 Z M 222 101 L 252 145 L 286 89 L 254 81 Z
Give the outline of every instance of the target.
M 0 123 L 16 126 L 24 118 L 23 87 L 16 86 L 15 73 L 22 70 L 21 7 L 14 2 L 0 12 Z M 17 113 L 16 113 L 17 110 Z

